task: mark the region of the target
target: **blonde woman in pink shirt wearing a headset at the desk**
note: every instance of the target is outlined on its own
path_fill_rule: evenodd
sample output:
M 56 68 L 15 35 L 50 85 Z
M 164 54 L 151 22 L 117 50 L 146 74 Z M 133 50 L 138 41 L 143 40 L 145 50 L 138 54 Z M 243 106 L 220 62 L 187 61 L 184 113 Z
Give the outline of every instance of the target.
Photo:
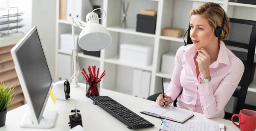
M 230 25 L 224 10 L 216 3 L 203 3 L 190 12 L 190 38 L 193 44 L 182 46 L 175 56 L 172 81 L 160 106 L 177 98 L 177 107 L 204 113 L 207 118 L 224 117 L 224 107 L 241 80 L 244 64 L 222 41 Z M 225 17 L 225 19 L 224 19 Z M 219 37 L 217 27 L 224 28 Z

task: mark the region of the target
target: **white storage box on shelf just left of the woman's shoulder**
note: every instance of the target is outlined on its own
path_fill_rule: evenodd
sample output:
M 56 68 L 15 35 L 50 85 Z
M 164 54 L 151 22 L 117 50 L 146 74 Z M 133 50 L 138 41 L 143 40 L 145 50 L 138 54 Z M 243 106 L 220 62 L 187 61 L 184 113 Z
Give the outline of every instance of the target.
M 161 72 L 172 75 L 174 69 L 175 53 L 169 52 L 162 55 Z

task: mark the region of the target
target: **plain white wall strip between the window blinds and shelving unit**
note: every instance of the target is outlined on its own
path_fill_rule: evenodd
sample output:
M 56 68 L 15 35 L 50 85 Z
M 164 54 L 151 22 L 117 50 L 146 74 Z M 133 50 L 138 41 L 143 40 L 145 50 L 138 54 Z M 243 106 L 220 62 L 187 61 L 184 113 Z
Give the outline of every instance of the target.
M 42 45 L 52 78 L 55 78 L 56 0 L 32 0 L 32 26 L 35 25 L 43 32 Z

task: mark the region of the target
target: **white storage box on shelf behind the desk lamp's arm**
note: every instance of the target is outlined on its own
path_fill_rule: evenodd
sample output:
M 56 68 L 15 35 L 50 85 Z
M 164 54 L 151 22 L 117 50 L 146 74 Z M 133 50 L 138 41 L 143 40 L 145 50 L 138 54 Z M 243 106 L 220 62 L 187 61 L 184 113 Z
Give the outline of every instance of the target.
M 82 49 L 78 45 L 78 38 L 79 34 L 75 34 L 75 47 L 78 52 L 81 52 Z M 62 33 L 60 35 L 60 50 L 67 52 L 67 53 L 72 53 L 73 50 L 73 36 L 72 33 Z

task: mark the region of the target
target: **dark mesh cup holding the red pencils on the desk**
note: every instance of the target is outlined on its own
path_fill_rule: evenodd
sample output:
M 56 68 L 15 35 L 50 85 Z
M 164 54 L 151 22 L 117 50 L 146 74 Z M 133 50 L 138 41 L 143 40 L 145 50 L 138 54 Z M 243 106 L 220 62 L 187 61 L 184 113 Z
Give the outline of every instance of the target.
M 99 96 L 100 81 L 98 82 L 86 81 L 86 97 L 87 98 L 90 98 L 90 96 Z

